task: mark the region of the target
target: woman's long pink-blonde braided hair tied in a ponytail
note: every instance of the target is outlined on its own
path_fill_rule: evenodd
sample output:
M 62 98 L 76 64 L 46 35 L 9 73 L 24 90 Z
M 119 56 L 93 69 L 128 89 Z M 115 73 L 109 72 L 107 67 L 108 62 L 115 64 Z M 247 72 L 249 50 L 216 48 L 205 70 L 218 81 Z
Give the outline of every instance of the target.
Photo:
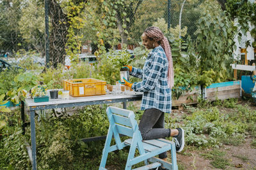
M 168 39 L 164 36 L 163 32 L 158 27 L 148 27 L 144 33 L 148 38 L 157 41 L 164 49 L 165 55 L 168 59 L 168 85 L 172 89 L 174 85 L 174 73 L 173 73 L 173 64 L 172 64 L 172 51 L 169 45 Z

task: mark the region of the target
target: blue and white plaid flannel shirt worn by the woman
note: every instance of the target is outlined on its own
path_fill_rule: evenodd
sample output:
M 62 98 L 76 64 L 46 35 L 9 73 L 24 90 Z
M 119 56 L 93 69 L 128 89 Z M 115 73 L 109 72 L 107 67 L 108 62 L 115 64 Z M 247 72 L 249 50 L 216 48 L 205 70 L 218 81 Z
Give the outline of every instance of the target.
M 132 67 L 131 75 L 141 78 L 132 89 L 143 92 L 141 110 L 156 108 L 165 113 L 172 111 L 172 90 L 167 83 L 168 59 L 162 46 L 148 53 L 143 69 Z

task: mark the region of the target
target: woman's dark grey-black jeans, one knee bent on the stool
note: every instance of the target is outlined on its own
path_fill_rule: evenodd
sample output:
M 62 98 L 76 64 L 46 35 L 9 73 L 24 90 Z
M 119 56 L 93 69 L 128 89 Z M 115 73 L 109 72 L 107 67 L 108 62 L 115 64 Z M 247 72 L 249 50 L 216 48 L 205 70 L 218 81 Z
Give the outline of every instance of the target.
M 170 137 L 171 129 L 164 129 L 164 112 L 155 108 L 145 110 L 139 124 L 143 140 Z M 167 157 L 167 152 L 159 154 L 160 159 Z

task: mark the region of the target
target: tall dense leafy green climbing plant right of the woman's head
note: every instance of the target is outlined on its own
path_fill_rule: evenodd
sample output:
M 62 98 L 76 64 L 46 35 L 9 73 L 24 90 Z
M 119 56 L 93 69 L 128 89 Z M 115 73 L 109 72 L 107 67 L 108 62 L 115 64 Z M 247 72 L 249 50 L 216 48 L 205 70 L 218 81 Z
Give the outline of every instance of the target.
M 189 55 L 194 58 L 198 56 L 198 70 L 202 76 L 200 85 L 205 87 L 211 83 L 231 79 L 230 64 L 233 62 L 233 39 L 236 27 L 232 25 L 230 18 L 223 12 L 213 16 L 205 12 L 199 19 L 196 33 L 195 51 L 197 53 Z

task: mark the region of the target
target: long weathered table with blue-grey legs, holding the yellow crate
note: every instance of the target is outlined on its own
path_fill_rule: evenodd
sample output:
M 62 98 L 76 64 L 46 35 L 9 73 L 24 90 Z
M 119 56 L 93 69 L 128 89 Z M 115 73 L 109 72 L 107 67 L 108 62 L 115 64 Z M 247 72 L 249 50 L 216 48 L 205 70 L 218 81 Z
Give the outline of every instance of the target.
M 35 133 L 35 111 L 36 110 L 48 110 L 55 108 L 68 108 L 74 106 L 86 106 L 93 104 L 109 104 L 109 103 L 123 103 L 123 107 L 126 108 L 127 101 L 140 101 L 142 93 L 138 92 L 125 92 L 120 94 L 106 94 L 101 96 L 87 96 L 87 97 L 71 97 L 69 99 L 50 99 L 49 102 L 35 103 L 33 99 L 25 99 L 25 102 L 21 103 L 21 118 L 22 129 L 25 131 L 25 111 L 24 106 L 28 106 L 30 113 L 30 127 L 31 127 L 31 146 L 28 148 L 29 158 L 32 162 L 33 170 L 36 169 L 36 133 Z M 102 137 L 96 137 L 93 139 L 102 139 Z M 93 141 L 91 138 L 88 141 Z

